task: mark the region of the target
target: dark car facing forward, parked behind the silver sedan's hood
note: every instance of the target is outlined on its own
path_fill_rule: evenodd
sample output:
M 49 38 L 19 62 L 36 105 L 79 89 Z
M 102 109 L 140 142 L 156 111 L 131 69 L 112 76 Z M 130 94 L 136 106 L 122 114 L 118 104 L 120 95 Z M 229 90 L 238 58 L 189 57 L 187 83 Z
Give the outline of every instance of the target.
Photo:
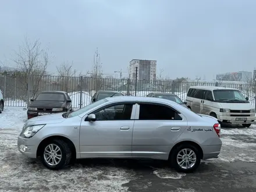
M 27 118 L 49 115 L 51 113 L 72 111 L 72 102 L 65 91 L 43 91 L 37 98 L 31 99 L 27 109 Z

